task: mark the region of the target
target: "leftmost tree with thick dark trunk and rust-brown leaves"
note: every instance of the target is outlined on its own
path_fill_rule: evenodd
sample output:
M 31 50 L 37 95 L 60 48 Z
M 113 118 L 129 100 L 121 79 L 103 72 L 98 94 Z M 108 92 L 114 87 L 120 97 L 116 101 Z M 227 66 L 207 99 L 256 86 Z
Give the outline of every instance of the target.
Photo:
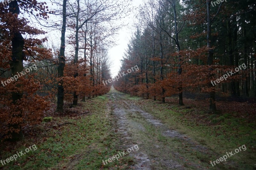
M 48 7 L 45 6 L 45 3 L 28 0 L 26 3 L 20 4 L 17 1 L 11 1 L 9 11 L 8 6 L 1 5 L 0 8 L 0 20 L 1 23 L 4 23 L 0 26 L 0 48 L 2 49 L 0 67 L 3 68 L 2 74 L 11 70 L 9 76 L 12 80 L 12 83 L 1 87 L 1 105 L 4 106 L 1 108 L 1 129 L 5 138 L 20 140 L 23 137 L 21 128 L 24 124 L 40 123 L 42 113 L 47 106 L 43 97 L 34 94 L 40 89 L 40 85 L 33 74 L 36 71 L 33 72 L 29 66 L 32 68 L 31 63 L 50 58 L 52 54 L 49 50 L 41 48 L 46 38 L 41 40 L 33 38 L 33 35 L 44 34 L 45 32 L 29 26 L 28 19 L 19 18 L 19 13 L 25 11 L 31 14 L 35 10 L 39 18 L 46 19 L 47 12 L 45 9 Z M 30 37 L 24 39 L 22 34 Z M 24 61 L 28 65 L 25 69 L 27 74 L 24 74 Z M 9 76 L 1 79 L 6 81 Z M 19 78 L 17 78 L 18 76 Z M 16 77 L 15 81 L 13 81 L 13 77 Z

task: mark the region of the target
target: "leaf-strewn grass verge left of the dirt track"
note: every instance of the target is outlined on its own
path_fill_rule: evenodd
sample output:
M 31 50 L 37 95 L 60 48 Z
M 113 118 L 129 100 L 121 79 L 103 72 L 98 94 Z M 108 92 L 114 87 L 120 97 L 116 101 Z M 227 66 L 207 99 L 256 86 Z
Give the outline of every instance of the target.
M 38 135 L 36 142 L 26 139 L 31 145 L 36 144 L 37 150 L 30 151 L 21 156 L 17 161 L 12 161 L 4 166 L 5 169 L 108 169 L 109 167 L 129 166 L 131 158 L 122 157 L 119 162 L 103 165 L 102 160 L 111 158 L 119 151 L 118 139 L 112 129 L 110 121 L 111 110 L 107 109 L 108 99 L 99 96 L 85 102 L 84 108 L 90 108 L 92 115 L 77 117 L 57 117 L 53 121 L 56 124 L 72 122 L 57 129 L 50 129 Z M 115 139 L 115 140 L 113 140 Z M 28 146 L 13 149 L 11 152 L 3 152 L 3 159 L 9 158 L 16 151 L 25 150 Z M 2 166 L 2 165 L 1 165 Z M 0 166 L 0 167 L 1 167 Z

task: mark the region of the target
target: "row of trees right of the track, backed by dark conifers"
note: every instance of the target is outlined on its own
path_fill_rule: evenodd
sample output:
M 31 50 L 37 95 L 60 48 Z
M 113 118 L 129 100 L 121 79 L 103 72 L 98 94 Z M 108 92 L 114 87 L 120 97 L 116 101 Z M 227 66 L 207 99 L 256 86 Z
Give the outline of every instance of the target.
M 121 70 L 131 73 L 114 86 L 122 92 L 156 100 L 183 92 L 209 94 L 216 112 L 216 92 L 232 97 L 256 97 L 255 1 L 230 0 L 212 7 L 211 0 L 148 0 L 140 7 L 137 31 L 122 61 Z M 220 84 L 212 85 L 241 64 Z

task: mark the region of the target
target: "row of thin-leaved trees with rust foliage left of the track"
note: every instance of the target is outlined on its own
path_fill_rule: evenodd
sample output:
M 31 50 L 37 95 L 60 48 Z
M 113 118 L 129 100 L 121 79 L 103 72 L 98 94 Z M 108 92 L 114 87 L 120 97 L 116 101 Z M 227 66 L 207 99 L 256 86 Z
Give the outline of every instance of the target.
M 76 106 L 79 99 L 109 91 L 102 81 L 110 78 L 108 48 L 120 27 L 111 25 L 121 16 L 120 5 L 114 0 L 63 0 L 53 3 L 53 10 L 36 0 L 0 4 L 0 81 L 33 64 L 38 68 L 0 87 L 1 138 L 23 138 L 22 128 L 40 123 L 51 102 L 57 103 L 56 112 L 63 112 L 64 99 Z M 58 30 L 60 41 L 50 45 L 38 38 L 46 34 L 40 28 L 54 35 Z

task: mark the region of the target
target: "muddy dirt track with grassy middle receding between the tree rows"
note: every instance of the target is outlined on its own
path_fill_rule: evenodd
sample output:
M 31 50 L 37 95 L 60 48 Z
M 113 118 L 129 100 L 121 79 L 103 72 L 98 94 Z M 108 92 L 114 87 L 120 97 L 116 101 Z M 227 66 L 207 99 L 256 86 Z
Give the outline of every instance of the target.
M 197 164 L 199 159 L 190 162 L 180 155 L 180 151 L 186 152 L 188 149 L 207 154 L 206 148 L 196 145 L 186 135 L 168 129 L 160 120 L 136 106 L 132 100 L 127 99 L 126 94 L 116 91 L 113 86 L 107 97 L 114 117 L 113 128 L 123 144 L 121 148 L 125 150 L 136 144 L 139 146 L 138 151 L 134 150 L 129 154 L 136 160 L 132 168 L 206 169 Z M 181 143 L 184 148 L 180 148 Z

